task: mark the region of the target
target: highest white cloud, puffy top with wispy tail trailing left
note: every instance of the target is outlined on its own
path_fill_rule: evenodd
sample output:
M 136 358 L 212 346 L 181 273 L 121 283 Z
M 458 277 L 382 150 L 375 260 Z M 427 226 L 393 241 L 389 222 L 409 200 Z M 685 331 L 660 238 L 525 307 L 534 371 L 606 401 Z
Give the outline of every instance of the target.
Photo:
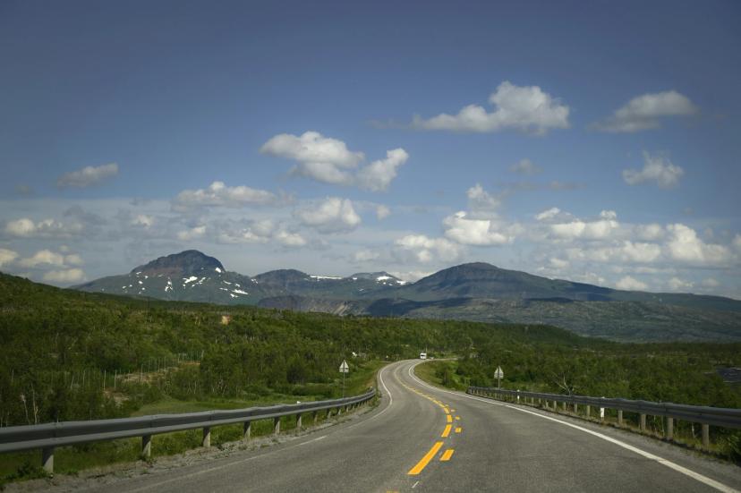
M 442 113 L 430 119 L 415 115 L 412 126 L 420 130 L 453 132 L 518 130 L 538 135 L 569 127 L 569 107 L 538 86 L 521 87 L 504 81 L 490 95 L 489 102 L 494 106 L 492 112 L 487 112 L 483 106 L 469 105 L 457 115 Z

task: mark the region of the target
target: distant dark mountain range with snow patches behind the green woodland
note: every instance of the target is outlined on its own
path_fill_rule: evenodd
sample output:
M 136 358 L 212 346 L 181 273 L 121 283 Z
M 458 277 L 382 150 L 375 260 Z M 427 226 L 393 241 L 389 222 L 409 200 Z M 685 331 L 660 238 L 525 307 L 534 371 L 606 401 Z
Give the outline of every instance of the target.
M 549 324 L 620 341 L 741 341 L 737 300 L 621 291 L 481 262 L 406 283 L 383 271 L 333 277 L 280 269 L 245 276 L 191 250 L 74 288 L 338 315 Z

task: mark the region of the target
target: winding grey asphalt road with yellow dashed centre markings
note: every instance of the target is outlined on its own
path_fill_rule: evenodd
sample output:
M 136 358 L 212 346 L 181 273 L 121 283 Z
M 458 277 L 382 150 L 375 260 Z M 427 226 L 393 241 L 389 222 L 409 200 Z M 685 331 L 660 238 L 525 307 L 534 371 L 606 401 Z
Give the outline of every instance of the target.
M 430 387 L 413 375 L 419 362 L 381 370 L 379 407 L 343 424 L 277 446 L 106 480 L 89 490 L 741 489 L 737 466 L 626 431 Z

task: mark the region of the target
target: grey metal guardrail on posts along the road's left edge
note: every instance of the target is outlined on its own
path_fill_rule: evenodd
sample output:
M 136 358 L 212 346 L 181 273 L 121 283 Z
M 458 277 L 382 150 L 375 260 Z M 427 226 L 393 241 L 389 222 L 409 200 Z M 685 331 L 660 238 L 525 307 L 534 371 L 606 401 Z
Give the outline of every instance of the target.
M 274 432 L 280 432 L 280 418 L 297 416 L 296 425 L 302 426 L 302 414 L 314 413 L 317 420 L 319 411 L 333 409 L 341 413 L 370 401 L 376 395 L 371 388 L 362 395 L 314 401 L 301 404 L 277 404 L 268 407 L 250 407 L 246 409 L 187 412 L 180 414 L 155 414 L 138 418 L 122 418 L 96 421 L 62 421 L 28 426 L 11 426 L 0 428 L 0 453 L 21 452 L 40 448 L 42 466 L 47 472 L 54 471 L 54 449 L 58 446 L 70 446 L 118 438 L 141 437 L 141 454 L 151 454 L 151 437 L 162 433 L 183 431 L 186 429 L 203 429 L 202 446 L 210 446 L 211 428 L 215 426 L 243 423 L 243 438 L 250 438 L 251 422 L 273 420 Z

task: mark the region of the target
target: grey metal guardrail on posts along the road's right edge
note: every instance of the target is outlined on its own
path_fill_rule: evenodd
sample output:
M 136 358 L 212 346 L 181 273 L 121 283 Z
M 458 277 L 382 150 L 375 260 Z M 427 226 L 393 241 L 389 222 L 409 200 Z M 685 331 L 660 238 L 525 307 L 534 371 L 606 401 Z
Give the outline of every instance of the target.
M 629 399 L 614 399 L 606 397 L 591 397 L 587 395 L 562 395 L 562 394 L 543 394 L 541 392 L 527 392 L 520 390 L 505 390 L 491 387 L 468 387 L 467 394 L 481 395 L 493 398 L 501 397 L 507 400 L 507 397 L 516 403 L 524 399 L 525 404 L 530 399 L 530 404 L 535 404 L 538 399 L 539 404 L 545 403 L 544 406 L 549 410 L 558 410 L 557 403 L 563 404 L 566 410 L 566 404 L 573 405 L 574 412 L 577 412 L 578 406 L 586 406 L 586 418 L 590 418 L 591 408 L 600 409 L 600 420 L 604 419 L 605 409 L 614 409 L 618 411 L 618 425 L 623 424 L 623 412 L 635 412 L 640 416 L 640 429 L 646 429 L 646 416 L 661 416 L 667 419 L 667 428 L 664 436 L 669 440 L 674 438 L 674 420 L 690 421 L 703 425 L 703 447 L 710 446 L 710 429 L 709 427 L 717 426 L 720 428 L 741 429 L 741 409 L 731 409 L 723 407 L 710 407 L 704 405 L 689 404 L 672 404 L 672 403 L 654 403 L 652 401 L 634 401 Z M 552 409 L 549 403 L 553 403 Z

